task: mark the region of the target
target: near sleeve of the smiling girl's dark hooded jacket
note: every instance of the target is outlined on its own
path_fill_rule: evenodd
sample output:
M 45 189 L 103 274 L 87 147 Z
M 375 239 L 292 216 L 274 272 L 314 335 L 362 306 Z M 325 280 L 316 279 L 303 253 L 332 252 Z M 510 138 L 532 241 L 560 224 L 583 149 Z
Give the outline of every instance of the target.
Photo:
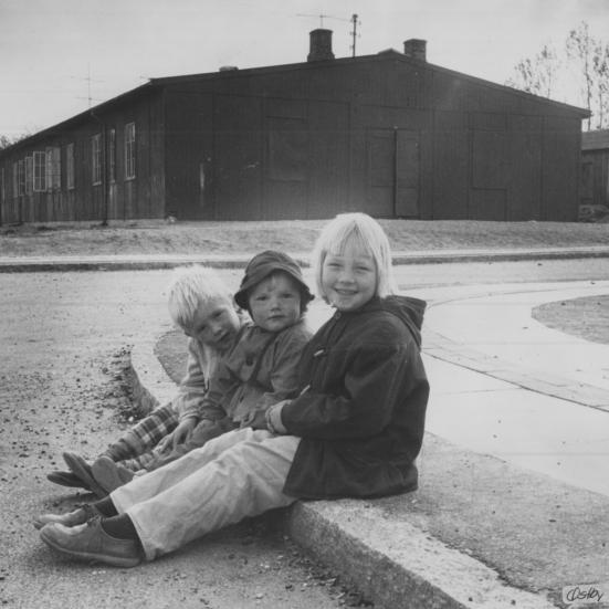
M 302 438 L 356 439 L 381 432 L 411 386 L 413 340 L 363 344 L 346 363 L 340 395 L 307 391 L 286 403 L 281 419 Z

